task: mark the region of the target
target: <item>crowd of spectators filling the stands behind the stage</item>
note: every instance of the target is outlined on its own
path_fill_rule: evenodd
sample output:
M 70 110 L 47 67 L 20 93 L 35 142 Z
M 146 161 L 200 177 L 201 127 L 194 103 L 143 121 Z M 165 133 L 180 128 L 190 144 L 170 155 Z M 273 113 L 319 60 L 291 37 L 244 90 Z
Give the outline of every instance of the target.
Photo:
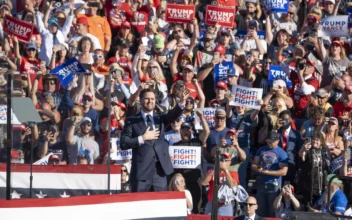
M 168 22 L 169 3 L 195 5 L 195 18 Z M 207 25 L 210 4 L 236 8 L 234 27 Z M 18 3 L 0 1 L 0 102 L 7 101 L 6 72 L 18 71 L 20 96 L 32 100 L 42 119 L 14 129 L 13 149 L 24 163 L 53 153 L 49 163 L 102 164 L 114 153 L 110 139 L 121 138 L 121 149 L 133 149 L 132 159 L 123 161 L 121 189 L 133 192 L 142 186 L 129 185 L 140 180 L 130 173 L 153 175 L 138 152 L 162 134 L 150 146 L 166 146 L 167 156 L 168 146 L 199 147 L 202 166 L 210 167 L 165 169 L 155 147 L 162 168 L 155 172 L 164 171 L 169 190 L 185 191 L 189 213 L 211 212 L 218 150 L 220 215 L 348 213 L 351 182 L 332 180 L 330 198 L 327 183 L 334 174 L 352 175 L 352 38 L 318 34 L 322 19 L 346 15 L 348 5 L 287 4 L 287 12 L 272 12 L 258 0 L 23 0 L 17 10 Z M 6 32 L 6 16 L 34 24 L 30 42 Z M 86 72 L 63 86 L 50 72 L 71 58 Z M 219 81 L 224 62 L 233 67 Z M 273 65 L 286 77 L 268 80 Z M 233 105 L 237 86 L 262 89 L 259 109 Z M 216 109 L 213 124 L 202 108 Z M 168 113 L 165 127 L 147 110 Z M 131 123 L 140 112 L 146 127 L 139 132 Z M 256 179 L 252 192 L 249 179 Z

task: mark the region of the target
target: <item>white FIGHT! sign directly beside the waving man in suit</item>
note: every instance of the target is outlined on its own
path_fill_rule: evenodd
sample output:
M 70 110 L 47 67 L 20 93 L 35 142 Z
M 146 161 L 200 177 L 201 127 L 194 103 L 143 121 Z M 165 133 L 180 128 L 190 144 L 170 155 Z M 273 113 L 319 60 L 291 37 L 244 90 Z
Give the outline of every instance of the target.
M 201 169 L 202 148 L 200 146 L 170 146 L 169 154 L 175 169 Z

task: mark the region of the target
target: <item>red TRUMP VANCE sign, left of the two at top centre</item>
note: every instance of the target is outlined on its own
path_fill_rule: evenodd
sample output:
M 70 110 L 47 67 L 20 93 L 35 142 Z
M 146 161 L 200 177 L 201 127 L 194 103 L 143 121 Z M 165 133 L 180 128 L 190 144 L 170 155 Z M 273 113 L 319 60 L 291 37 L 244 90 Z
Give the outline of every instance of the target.
M 196 11 L 195 5 L 166 5 L 166 21 L 187 23 L 194 19 Z

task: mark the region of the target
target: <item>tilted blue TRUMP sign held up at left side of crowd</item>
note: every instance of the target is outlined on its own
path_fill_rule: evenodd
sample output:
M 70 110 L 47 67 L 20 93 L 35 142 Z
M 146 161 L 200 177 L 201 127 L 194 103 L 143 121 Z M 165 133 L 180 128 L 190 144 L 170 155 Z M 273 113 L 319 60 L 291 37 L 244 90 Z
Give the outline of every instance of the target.
M 84 72 L 86 72 L 86 70 L 76 58 L 71 58 L 50 71 L 51 74 L 57 76 L 64 88 L 71 83 L 76 73 Z

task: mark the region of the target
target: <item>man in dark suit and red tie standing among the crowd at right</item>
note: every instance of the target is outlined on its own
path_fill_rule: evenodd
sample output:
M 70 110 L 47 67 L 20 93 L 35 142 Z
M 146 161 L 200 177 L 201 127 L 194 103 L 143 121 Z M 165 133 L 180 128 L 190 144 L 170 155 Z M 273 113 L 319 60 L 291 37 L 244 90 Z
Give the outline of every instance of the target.
M 302 146 L 301 133 L 292 128 L 291 112 L 289 110 L 282 111 L 279 115 L 281 127 L 277 131 L 281 135 L 279 146 L 287 153 L 288 170 L 283 181 L 290 181 L 293 184 L 298 161 L 298 152 Z

